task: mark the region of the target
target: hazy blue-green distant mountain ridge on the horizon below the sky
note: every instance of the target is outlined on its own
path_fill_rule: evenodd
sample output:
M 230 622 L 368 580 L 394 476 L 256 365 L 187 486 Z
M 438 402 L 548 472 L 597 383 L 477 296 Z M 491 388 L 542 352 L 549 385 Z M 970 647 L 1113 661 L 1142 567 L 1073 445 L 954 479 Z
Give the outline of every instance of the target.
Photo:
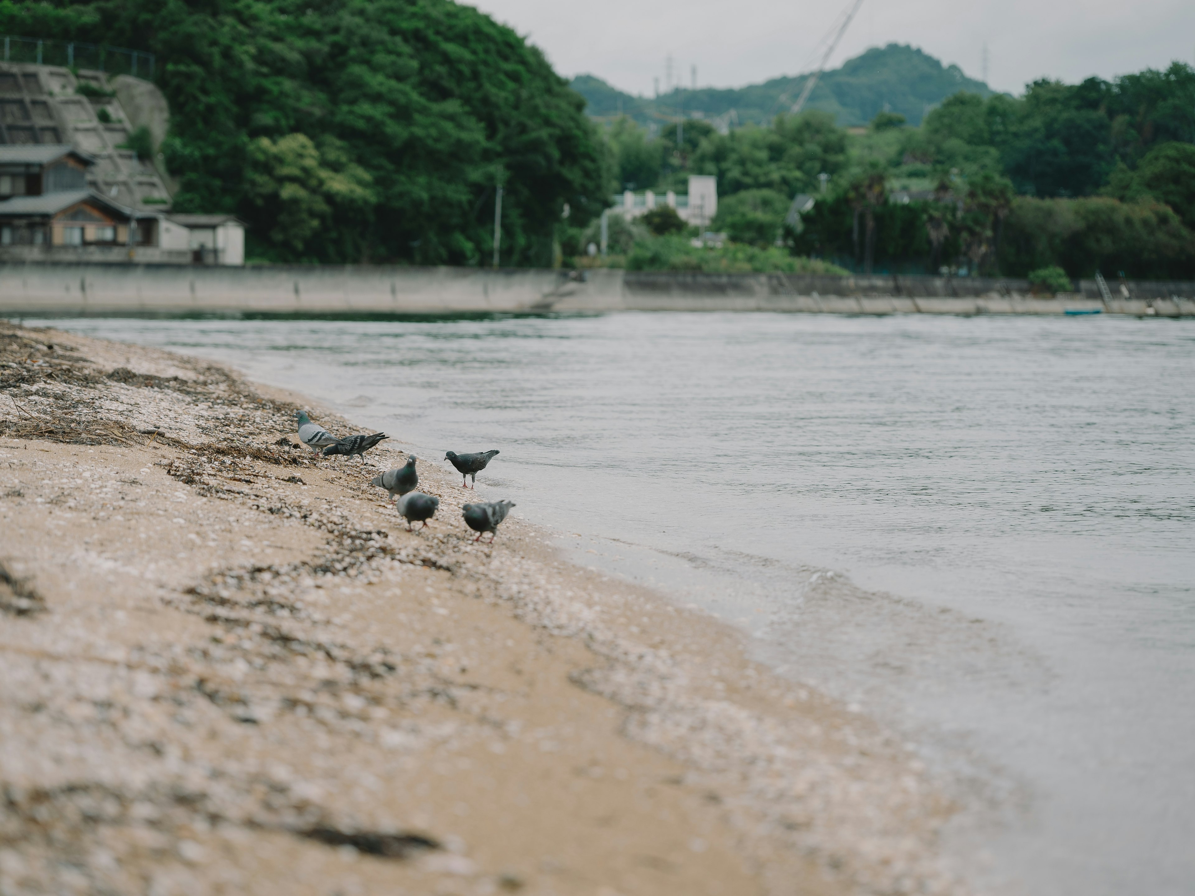
M 627 115 L 641 124 L 662 124 L 684 115 L 715 119 L 719 130 L 725 130 L 725 125 L 736 121 L 761 124 L 788 111 L 808 76 L 773 78 L 739 90 L 678 88 L 654 99 L 623 93 L 593 75 L 574 78 L 572 90 L 586 98 L 589 104 L 586 113 L 595 118 Z M 866 124 L 885 109 L 900 112 L 909 124 L 920 124 L 931 106 L 958 91 L 983 97 L 992 93 L 986 84 L 968 78 L 958 66 L 943 66 L 919 49 L 890 43 L 822 73 L 805 108 L 833 112 L 844 127 Z

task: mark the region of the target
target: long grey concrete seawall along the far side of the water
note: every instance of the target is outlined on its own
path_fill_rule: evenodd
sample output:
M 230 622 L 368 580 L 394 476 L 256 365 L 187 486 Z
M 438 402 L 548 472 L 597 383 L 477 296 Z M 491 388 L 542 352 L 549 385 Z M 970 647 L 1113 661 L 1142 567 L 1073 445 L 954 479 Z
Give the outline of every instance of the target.
M 1156 314 L 1195 317 L 1195 283 L 1095 281 L 1053 299 L 1018 280 L 814 277 L 623 270 L 409 266 L 204 268 L 0 264 L 5 314 L 445 314 L 774 311 L 838 314 Z

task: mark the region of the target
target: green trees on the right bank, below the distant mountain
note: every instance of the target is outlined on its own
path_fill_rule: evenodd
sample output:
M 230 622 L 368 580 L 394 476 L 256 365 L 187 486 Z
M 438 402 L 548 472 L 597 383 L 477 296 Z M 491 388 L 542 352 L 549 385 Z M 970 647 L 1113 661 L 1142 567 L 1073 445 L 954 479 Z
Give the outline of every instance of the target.
M 718 178 L 712 227 L 856 270 L 1195 278 L 1195 69 L 958 92 L 919 128 L 877 113 L 864 134 L 822 111 L 719 134 L 606 128 L 626 189 Z M 822 178 L 826 174 L 826 190 Z M 816 202 L 785 222 L 796 194 Z M 641 240 L 642 241 L 642 240 Z M 688 264 L 681 259 L 678 263 Z M 1065 271 L 1065 275 L 1064 275 Z

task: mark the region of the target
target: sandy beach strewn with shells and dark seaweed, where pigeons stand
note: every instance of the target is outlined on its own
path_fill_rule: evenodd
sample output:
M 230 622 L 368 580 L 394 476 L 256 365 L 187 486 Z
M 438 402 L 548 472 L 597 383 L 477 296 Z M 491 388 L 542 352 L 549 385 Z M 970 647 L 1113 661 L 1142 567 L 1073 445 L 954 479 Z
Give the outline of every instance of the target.
M 431 462 L 407 533 L 368 485 L 402 432 L 317 461 L 276 444 L 294 395 L 6 324 L 0 385 L 0 561 L 38 605 L 0 616 L 0 884 L 962 891 L 887 732 L 517 516 L 470 544 Z

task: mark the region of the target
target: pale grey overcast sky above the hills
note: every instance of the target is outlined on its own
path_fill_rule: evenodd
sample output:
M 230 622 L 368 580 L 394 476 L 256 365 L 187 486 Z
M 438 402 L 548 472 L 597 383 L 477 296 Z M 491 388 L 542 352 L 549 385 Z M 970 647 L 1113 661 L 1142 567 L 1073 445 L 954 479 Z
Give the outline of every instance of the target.
M 589 73 L 630 93 L 664 86 L 664 59 L 688 86 L 739 87 L 809 70 L 847 0 L 483 0 L 563 75 Z M 943 63 L 1019 93 L 1036 78 L 1111 78 L 1195 62 L 1195 0 L 863 0 L 829 61 L 868 47 L 920 47 Z M 675 76 L 675 75 L 674 75 Z

